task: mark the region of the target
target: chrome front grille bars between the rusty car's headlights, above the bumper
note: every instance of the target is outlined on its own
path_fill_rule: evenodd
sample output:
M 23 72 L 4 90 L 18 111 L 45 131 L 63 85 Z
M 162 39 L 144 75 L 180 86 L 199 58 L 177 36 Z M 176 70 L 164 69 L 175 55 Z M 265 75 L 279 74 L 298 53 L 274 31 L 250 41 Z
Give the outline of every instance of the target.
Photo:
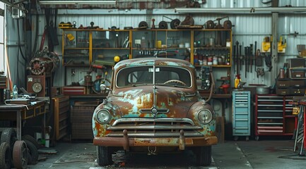
M 129 137 L 180 137 L 184 130 L 185 137 L 201 137 L 197 131 L 201 129 L 189 118 L 121 118 L 107 127 L 111 130 L 107 136 L 123 137 L 122 131 L 127 130 Z

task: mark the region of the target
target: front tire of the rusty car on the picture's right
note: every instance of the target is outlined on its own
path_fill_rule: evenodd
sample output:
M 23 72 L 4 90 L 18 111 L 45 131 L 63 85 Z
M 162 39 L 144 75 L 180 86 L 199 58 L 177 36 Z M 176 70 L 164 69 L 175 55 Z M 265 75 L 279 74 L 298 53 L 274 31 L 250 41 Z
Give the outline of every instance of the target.
M 194 153 L 196 154 L 197 165 L 211 165 L 211 146 L 200 146 Z

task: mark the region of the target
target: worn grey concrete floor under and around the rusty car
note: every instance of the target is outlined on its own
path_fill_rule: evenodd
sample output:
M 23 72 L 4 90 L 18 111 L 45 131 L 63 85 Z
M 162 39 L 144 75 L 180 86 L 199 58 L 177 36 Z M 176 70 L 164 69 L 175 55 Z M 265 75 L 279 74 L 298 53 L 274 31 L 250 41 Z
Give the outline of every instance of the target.
M 299 155 L 300 144 L 295 152 L 293 146 L 294 140 L 291 139 L 226 141 L 213 146 L 213 163 L 208 167 L 196 167 L 194 155 L 187 151 L 184 154 L 157 156 L 136 154 L 124 168 L 306 168 L 306 156 Z M 113 165 L 98 166 L 95 162 L 95 146 L 90 143 L 60 142 L 51 149 L 57 150 L 57 154 L 40 154 L 40 158 L 47 159 L 36 165 L 28 165 L 28 168 L 116 168 Z

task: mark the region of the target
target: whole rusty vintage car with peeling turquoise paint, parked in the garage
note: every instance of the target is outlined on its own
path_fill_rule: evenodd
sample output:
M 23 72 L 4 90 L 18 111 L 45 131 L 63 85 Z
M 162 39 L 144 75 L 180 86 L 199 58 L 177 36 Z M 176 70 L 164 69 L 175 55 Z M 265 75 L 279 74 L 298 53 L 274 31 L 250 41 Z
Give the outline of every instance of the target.
M 216 114 L 199 95 L 194 65 L 175 58 L 120 61 L 107 90 L 93 113 L 98 165 L 110 165 L 119 151 L 185 149 L 194 152 L 197 165 L 211 164 L 211 146 L 218 142 Z

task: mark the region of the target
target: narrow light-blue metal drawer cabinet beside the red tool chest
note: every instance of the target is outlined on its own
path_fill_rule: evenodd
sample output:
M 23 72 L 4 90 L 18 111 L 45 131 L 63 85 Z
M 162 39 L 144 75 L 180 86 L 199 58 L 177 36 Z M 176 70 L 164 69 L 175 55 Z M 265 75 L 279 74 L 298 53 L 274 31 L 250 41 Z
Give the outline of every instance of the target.
M 249 91 L 233 91 L 233 136 L 250 135 L 251 93 Z

